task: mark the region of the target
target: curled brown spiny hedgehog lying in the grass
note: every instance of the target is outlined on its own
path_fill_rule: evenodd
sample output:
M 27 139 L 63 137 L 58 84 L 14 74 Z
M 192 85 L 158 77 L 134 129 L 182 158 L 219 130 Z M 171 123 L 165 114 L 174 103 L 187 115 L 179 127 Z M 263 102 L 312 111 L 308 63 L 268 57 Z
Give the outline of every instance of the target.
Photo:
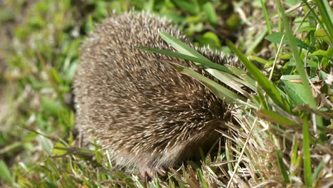
M 163 17 L 134 11 L 110 16 L 83 43 L 73 83 L 75 124 L 84 139 L 93 137 L 117 166 L 146 178 L 210 148 L 221 137 L 216 130 L 232 119 L 231 104 L 172 63 L 209 77 L 203 68 L 136 48 L 174 51 L 160 31 L 194 47 Z M 237 62 L 208 48 L 196 50 L 216 63 Z

